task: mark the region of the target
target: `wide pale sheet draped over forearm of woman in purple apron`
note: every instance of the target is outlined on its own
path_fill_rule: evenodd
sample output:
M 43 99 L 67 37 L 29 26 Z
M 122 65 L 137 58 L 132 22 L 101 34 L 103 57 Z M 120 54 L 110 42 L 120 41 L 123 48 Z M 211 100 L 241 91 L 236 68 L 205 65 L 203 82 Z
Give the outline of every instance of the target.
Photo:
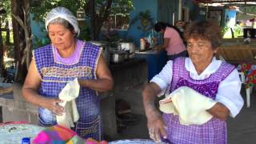
M 181 86 L 159 102 L 159 109 L 166 114 L 178 115 L 182 125 L 202 125 L 213 117 L 206 110 L 216 103 L 190 87 Z

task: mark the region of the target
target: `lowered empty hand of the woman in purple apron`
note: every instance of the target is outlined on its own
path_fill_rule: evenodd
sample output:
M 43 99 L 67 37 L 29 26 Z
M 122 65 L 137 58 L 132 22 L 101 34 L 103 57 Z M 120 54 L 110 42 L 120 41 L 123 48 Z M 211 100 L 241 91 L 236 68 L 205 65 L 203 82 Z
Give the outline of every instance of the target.
M 149 130 L 150 138 L 154 140 L 154 142 L 161 142 L 162 138 L 166 137 L 166 126 L 162 120 L 161 114 L 158 111 L 152 112 L 147 117 L 147 127 Z

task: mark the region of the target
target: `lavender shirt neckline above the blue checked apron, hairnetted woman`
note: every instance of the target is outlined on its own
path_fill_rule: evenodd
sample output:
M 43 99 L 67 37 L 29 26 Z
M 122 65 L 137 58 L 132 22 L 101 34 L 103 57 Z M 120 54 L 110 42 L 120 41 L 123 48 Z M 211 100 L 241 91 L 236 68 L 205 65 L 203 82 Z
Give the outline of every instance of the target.
M 58 54 L 58 50 L 54 47 L 54 57 L 56 61 L 64 64 L 77 63 L 80 58 L 83 43 L 84 42 L 82 42 L 81 40 L 77 40 L 77 47 L 74 50 L 74 53 L 71 54 L 68 58 L 62 58 L 62 56 Z

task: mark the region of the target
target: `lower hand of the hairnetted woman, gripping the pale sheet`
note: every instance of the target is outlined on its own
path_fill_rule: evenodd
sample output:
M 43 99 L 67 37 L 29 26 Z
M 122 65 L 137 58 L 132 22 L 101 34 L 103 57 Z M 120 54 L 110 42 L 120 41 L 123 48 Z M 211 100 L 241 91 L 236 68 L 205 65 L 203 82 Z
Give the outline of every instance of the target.
M 44 98 L 42 102 L 42 107 L 50 110 L 56 115 L 61 116 L 64 112 L 64 107 L 58 104 L 60 102 L 62 102 L 62 100 L 58 98 Z

